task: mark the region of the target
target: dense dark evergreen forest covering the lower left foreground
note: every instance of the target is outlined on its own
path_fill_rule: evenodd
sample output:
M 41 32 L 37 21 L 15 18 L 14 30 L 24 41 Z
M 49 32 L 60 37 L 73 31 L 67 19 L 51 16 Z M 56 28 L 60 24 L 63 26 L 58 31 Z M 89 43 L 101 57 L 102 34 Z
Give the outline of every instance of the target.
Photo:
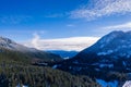
M 1 58 L 0 58 L 1 59 Z M 87 76 L 13 61 L 0 62 L 0 87 L 100 87 Z

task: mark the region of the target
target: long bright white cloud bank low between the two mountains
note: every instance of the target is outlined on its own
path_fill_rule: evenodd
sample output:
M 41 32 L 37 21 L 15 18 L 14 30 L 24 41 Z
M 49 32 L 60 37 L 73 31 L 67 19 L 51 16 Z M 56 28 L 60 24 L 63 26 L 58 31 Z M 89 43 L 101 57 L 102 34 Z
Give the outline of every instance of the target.
M 58 38 L 58 39 L 40 39 L 40 37 L 35 34 L 32 42 L 26 42 L 27 47 L 35 47 L 40 50 L 83 50 L 94 42 L 96 42 L 98 37 L 70 37 L 70 38 Z

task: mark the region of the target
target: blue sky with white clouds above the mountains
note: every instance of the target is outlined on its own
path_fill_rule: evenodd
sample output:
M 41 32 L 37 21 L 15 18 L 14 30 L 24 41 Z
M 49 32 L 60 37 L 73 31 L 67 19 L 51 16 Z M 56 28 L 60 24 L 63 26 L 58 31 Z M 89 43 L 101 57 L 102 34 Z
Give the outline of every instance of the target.
M 131 30 L 131 0 L 0 0 L 0 36 L 40 50 L 76 50 Z

